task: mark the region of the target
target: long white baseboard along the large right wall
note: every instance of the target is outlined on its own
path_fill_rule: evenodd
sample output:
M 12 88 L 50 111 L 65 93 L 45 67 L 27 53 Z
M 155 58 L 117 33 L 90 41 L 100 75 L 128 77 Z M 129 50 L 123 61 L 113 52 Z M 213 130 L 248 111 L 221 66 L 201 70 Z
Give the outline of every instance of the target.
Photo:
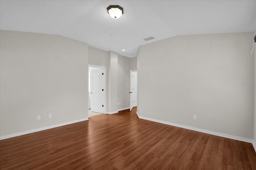
M 221 136 L 221 137 L 224 137 L 224 138 L 230 138 L 230 139 L 234 139 L 234 140 L 240 140 L 240 141 L 243 141 L 243 142 L 249 142 L 249 143 L 253 144 L 252 139 L 242 138 L 242 137 L 239 137 L 239 136 L 233 136 L 233 135 L 230 135 L 230 134 L 224 134 L 224 133 L 220 133 L 220 132 L 214 132 L 214 131 L 205 130 L 205 129 L 201 129 L 201 128 L 190 127 L 190 126 L 186 126 L 186 125 L 179 125 L 179 124 L 176 124 L 176 123 L 160 121 L 160 120 L 157 120 L 157 119 L 151 119 L 151 118 L 148 118 L 148 117 L 140 116 L 138 113 L 137 113 L 137 115 L 140 119 L 145 119 L 145 120 L 153 121 L 153 122 L 157 122 L 157 123 L 163 123 L 163 124 L 171 125 L 171 126 L 174 126 L 174 127 L 186 128 L 186 129 L 189 129 L 189 130 L 194 130 L 194 131 L 203 132 L 203 133 L 207 133 L 207 134 L 212 134 L 212 135 L 216 135 L 216 136 Z M 255 149 L 255 144 L 254 144 L 254 149 Z

